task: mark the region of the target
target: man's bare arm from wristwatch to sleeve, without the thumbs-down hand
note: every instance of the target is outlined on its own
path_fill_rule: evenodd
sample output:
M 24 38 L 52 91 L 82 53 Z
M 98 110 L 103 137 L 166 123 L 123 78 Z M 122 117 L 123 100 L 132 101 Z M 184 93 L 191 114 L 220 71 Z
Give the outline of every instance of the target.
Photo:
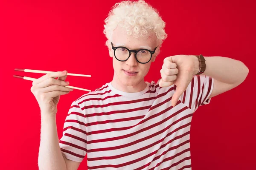
M 235 88 L 240 85 L 249 73 L 243 62 L 228 57 L 204 57 L 206 70 L 204 75 L 214 78 L 212 94 L 209 98 Z M 196 59 L 195 74 L 199 70 L 199 61 Z

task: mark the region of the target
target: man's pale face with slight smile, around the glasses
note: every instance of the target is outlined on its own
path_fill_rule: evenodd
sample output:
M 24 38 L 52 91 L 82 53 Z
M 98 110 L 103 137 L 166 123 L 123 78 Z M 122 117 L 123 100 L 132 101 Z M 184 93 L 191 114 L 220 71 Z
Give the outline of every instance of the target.
M 151 34 L 150 37 L 135 38 L 129 36 L 125 31 L 125 28 L 118 26 L 112 34 L 112 40 L 114 47 L 123 46 L 130 50 L 139 50 L 141 48 L 154 51 L 157 47 L 157 37 L 155 34 Z M 124 86 L 137 86 L 144 83 L 144 77 L 148 73 L 151 62 L 154 62 L 156 54 L 152 55 L 151 60 L 142 64 L 137 62 L 135 53 L 131 53 L 128 60 L 121 62 L 114 57 L 114 50 L 112 46 L 109 47 L 110 57 L 113 58 L 114 78 L 119 85 Z

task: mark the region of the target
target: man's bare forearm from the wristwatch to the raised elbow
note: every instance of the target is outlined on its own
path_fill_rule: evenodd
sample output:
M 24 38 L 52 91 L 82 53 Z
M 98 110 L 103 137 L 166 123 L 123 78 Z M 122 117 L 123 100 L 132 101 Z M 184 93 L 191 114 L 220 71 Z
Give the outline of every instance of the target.
M 206 70 L 204 75 L 227 84 L 240 84 L 247 77 L 249 69 L 243 62 L 228 57 L 204 57 Z M 197 59 L 197 64 L 199 61 Z M 199 67 L 198 67 L 199 69 Z M 198 72 L 198 70 L 197 70 Z

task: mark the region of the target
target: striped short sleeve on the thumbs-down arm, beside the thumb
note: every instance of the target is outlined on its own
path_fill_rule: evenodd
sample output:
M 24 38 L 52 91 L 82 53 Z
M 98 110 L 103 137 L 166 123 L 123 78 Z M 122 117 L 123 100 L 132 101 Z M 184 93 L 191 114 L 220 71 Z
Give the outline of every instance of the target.
M 207 105 L 211 101 L 214 79 L 206 75 L 195 75 L 189 83 L 186 91 L 180 96 L 181 102 L 187 105 L 192 111 L 199 106 Z

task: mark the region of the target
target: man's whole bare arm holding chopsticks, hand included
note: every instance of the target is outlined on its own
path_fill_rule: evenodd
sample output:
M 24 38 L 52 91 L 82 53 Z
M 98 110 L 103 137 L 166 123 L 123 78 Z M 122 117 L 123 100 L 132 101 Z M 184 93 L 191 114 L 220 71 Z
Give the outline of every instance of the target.
M 57 78 L 58 79 L 55 79 Z M 56 126 L 57 104 L 60 96 L 73 91 L 65 82 L 67 71 L 45 74 L 32 82 L 31 92 L 41 110 L 41 140 L 38 155 L 39 170 L 77 170 L 79 162 L 62 156 Z

